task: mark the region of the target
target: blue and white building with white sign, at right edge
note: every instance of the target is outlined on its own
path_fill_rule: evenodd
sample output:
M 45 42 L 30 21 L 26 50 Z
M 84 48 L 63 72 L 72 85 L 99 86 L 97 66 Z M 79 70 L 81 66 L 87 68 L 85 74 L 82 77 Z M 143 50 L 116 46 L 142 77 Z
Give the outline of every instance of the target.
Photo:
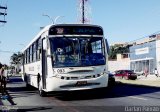
M 160 34 L 139 40 L 130 47 L 130 69 L 154 74 L 155 68 L 160 71 Z

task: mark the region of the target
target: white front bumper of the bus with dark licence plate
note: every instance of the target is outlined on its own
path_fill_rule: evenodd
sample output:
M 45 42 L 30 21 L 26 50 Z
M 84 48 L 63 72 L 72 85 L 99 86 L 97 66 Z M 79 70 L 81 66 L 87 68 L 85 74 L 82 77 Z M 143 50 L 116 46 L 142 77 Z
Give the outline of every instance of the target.
M 47 92 L 87 90 L 107 87 L 108 77 L 107 75 L 103 75 L 98 78 L 80 80 L 63 80 L 56 77 L 52 77 L 48 78 L 46 82 Z

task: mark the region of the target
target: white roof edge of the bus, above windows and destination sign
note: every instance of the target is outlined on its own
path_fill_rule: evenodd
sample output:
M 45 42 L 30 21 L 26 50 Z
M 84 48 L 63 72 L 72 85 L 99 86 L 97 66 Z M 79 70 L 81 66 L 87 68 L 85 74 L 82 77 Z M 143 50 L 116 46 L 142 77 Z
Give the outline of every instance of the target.
M 33 39 L 32 41 L 22 50 L 24 52 L 30 45 L 32 45 L 33 42 L 35 42 L 43 33 L 49 31 L 50 28 L 56 27 L 56 26 L 93 26 L 93 27 L 99 27 L 102 28 L 99 25 L 93 25 L 93 24 L 50 24 L 45 26 Z

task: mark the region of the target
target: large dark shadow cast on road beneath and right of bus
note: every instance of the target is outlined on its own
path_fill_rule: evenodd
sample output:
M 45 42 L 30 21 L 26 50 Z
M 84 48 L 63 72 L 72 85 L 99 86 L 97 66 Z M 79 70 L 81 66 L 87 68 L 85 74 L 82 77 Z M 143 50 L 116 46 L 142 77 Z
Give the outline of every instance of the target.
M 60 94 L 56 95 L 53 94 L 53 96 L 63 101 L 74 101 L 74 100 L 118 98 L 118 97 L 127 97 L 135 95 L 144 95 L 156 92 L 160 92 L 160 89 L 151 87 L 138 87 L 127 84 L 116 84 L 115 87 L 113 88 L 61 92 Z M 157 99 L 157 96 L 155 98 Z M 158 99 L 160 99 L 160 96 L 158 96 Z

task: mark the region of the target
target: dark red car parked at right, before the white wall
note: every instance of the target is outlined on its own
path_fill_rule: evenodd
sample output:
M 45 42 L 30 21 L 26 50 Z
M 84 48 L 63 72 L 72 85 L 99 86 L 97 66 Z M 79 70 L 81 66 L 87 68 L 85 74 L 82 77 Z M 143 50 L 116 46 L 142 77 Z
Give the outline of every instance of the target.
M 117 70 L 114 74 L 116 77 L 124 78 L 124 79 L 137 79 L 136 73 L 133 70 Z

